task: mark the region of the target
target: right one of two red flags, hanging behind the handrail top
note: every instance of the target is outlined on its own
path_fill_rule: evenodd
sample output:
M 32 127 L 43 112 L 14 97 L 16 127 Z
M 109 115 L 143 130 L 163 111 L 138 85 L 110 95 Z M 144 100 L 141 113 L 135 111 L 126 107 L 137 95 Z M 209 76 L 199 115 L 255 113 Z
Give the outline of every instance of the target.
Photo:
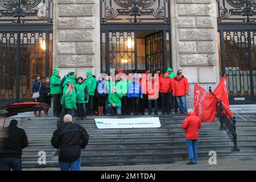
M 221 79 L 220 83 L 217 85 L 216 89 L 213 91 L 213 94 L 218 98 L 218 100 L 222 101 L 225 109 L 232 116 L 233 113 L 229 109 L 229 96 L 228 96 L 228 87 L 226 86 L 226 75 Z

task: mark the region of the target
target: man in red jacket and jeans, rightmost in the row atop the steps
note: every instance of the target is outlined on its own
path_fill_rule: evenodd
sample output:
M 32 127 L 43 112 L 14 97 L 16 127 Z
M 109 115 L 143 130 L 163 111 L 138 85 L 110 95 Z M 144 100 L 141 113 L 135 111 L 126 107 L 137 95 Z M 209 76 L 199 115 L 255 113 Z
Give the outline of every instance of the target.
M 172 79 L 172 94 L 177 98 L 180 114 L 187 114 L 186 95 L 188 96 L 188 93 L 188 80 L 178 71 Z

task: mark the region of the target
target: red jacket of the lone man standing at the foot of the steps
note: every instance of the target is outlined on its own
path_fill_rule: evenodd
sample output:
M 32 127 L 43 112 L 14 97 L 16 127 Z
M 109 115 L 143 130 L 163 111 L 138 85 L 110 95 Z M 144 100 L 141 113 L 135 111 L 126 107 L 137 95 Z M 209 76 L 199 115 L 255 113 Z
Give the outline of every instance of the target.
M 182 124 L 182 128 L 185 130 L 186 139 L 197 140 L 198 132 L 201 129 L 201 119 L 196 116 L 196 113 L 189 113 Z

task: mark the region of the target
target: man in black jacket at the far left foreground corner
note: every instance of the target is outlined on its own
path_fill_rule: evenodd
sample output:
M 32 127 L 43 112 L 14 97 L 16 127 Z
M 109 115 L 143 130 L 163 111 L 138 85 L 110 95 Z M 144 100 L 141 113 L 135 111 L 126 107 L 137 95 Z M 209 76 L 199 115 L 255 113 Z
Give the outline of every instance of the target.
M 27 135 L 18 127 L 18 121 L 11 120 L 6 129 L 7 138 L 3 140 L 3 151 L 0 154 L 1 171 L 22 171 L 22 149 L 28 146 Z

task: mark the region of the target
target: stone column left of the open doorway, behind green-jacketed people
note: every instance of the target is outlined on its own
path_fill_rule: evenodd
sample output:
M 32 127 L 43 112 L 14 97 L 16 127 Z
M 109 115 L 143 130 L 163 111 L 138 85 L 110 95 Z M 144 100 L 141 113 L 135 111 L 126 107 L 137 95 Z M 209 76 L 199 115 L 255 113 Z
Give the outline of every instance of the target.
M 60 68 L 61 77 L 69 71 L 85 77 L 88 69 L 96 74 L 95 61 L 100 60 L 100 49 L 95 47 L 100 42 L 97 27 L 100 20 L 95 14 L 100 13 L 99 7 L 96 0 L 57 0 L 55 3 L 53 67 Z

